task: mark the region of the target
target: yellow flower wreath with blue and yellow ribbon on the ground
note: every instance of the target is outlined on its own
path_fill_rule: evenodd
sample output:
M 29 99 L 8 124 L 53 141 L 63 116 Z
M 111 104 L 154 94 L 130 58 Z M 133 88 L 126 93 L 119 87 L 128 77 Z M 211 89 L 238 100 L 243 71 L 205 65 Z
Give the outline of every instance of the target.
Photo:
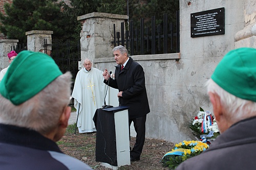
M 167 152 L 162 158 L 162 164 L 169 169 L 175 169 L 181 162 L 199 155 L 205 151 L 209 145 L 202 141 L 186 141 L 176 143 L 175 148 Z

